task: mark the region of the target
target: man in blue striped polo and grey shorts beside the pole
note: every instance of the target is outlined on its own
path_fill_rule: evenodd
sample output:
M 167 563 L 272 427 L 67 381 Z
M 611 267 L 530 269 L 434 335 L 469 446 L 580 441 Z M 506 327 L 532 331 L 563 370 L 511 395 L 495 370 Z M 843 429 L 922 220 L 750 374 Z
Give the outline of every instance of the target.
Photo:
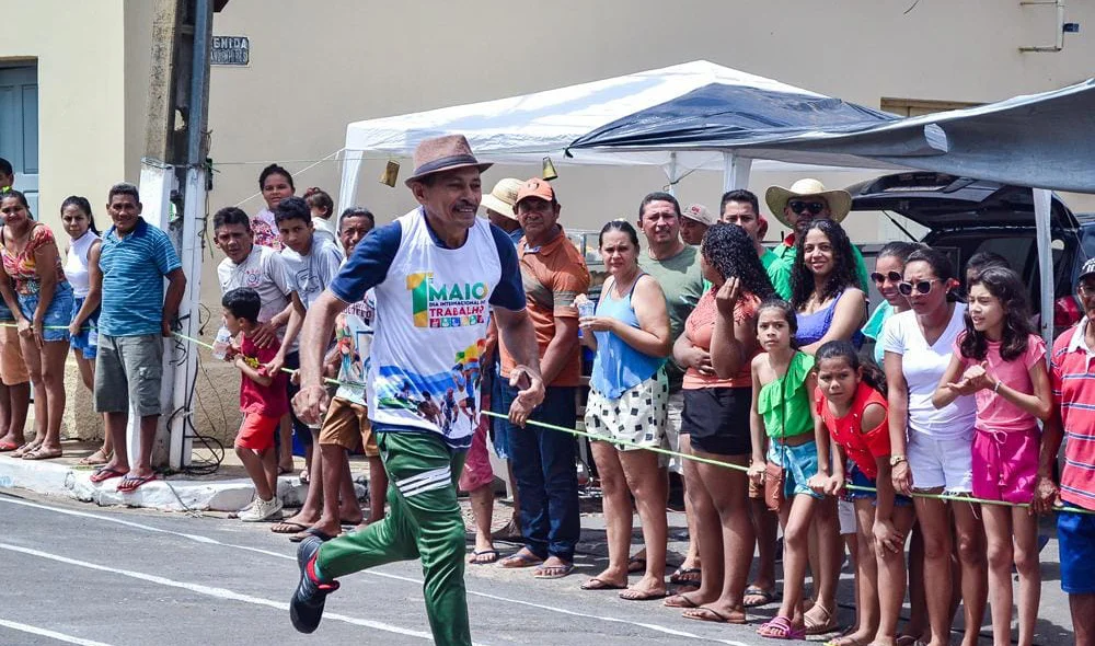
M 140 217 L 140 195 L 132 184 L 115 184 L 106 210 L 114 226 L 103 235 L 99 268 L 103 304 L 99 316 L 95 362 L 95 412 L 106 415 L 114 457 L 91 482 L 123 477 L 118 491 L 129 493 L 155 478 L 152 446 L 160 420 L 163 338 L 186 289 L 182 263 L 168 234 Z M 164 295 L 163 280 L 168 280 Z M 130 466 L 126 445 L 129 406 L 140 417 L 140 452 Z

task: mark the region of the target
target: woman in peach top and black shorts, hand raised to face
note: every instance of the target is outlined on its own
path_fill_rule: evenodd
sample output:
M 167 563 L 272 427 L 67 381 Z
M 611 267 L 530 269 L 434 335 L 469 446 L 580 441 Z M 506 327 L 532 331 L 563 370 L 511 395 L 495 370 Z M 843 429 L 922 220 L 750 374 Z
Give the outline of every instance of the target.
M 750 362 L 758 351 L 757 308 L 775 290 L 749 234 L 734 224 L 707 229 L 700 266 L 712 286 L 673 347 L 677 362 L 689 366 L 681 447 L 700 458 L 747 466 L 752 453 Z M 695 367 L 691 355 L 698 351 L 710 353 L 710 368 Z M 703 550 L 703 574 L 698 590 L 676 595 L 666 604 L 684 608 L 688 619 L 745 623 L 753 551 L 748 480 L 741 471 L 687 460 L 684 481 Z

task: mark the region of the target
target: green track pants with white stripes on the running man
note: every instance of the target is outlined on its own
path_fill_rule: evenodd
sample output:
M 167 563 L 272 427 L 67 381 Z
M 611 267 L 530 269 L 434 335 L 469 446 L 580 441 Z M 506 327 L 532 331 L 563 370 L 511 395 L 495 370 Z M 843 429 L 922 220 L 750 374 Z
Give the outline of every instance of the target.
M 457 478 L 464 451 L 450 449 L 441 436 L 423 432 L 377 434 L 388 471 L 388 516 L 361 531 L 343 534 L 320 549 L 316 565 L 324 578 L 369 567 L 422 558 L 426 615 L 434 642 L 471 646 L 464 590 L 464 521 L 457 503 Z

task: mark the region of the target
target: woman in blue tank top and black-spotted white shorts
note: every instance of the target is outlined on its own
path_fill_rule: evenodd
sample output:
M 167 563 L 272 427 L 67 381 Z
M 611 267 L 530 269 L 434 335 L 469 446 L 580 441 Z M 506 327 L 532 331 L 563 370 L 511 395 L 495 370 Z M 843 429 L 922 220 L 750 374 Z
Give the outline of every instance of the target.
M 659 599 L 666 596 L 666 483 L 658 454 L 642 449 L 666 446 L 669 313 L 658 281 L 638 268 L 638 235 L 630 223 L 606 224 L 600 250 L 609 278 L 596 314 L 579 319 L 579 326 L 583 343 L 597 353 L 585 422 L 588 432 L 603 438 L 592 442 L 592 453 L 601 478 L 609 566 L 581 588 L 622 589 L 620 597 L 633 601 Z M 578 299 L 581 311 L 584 297 Z M 646 573 L 631 587 L 629 493 L 635 497 L 646 545 Z

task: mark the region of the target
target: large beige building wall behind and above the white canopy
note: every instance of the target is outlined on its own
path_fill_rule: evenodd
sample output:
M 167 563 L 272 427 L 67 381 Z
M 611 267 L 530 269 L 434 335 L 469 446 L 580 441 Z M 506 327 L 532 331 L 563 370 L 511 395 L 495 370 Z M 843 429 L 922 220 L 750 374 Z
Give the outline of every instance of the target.
M 252 65 L 212 71 L 212 155 L 218 162 L 314 160 L 338 149 L 350 120 L 496 99 L 693 59 L 877 107 L 880 97 L 989 102 L 1059 88 L 1092 73 L 1095 7 L 1070 2 L 1083 23 L 1057 54 L 1021 54 L 1054 39 L 1056 14 L 1017 0 L 557 0 L 518 11 L 503 0 L 474 9 L 448 2 L 232 0 L 215 20 L 218 35 L 251 37 Z M 290 170 L 308 161 L 284 161 Z M 407 210 L 402 184 L 377 183 L 381 162 L 367 162 L 358 200 L 381 220 Z M 246 199 L 261 164 L 221 165 L 212 204 Z M 631 214 L 660 188 L 658 170 L 561 166 L 557 186 L 572 226 L 593 228 Z M 537 169 L 497 169 L 531 174 Z M 404 168 L 404 176 L 407 172 Z M 843 185 L 862 175 L 835 173 Z M 756 174 L 753 188 L 788 177 Z M 337 164 L 299 174 L 298 187 L 335 192 Z M 721 177 L 696 173 L 678 186 L 682 201 L 718 199 Z M 246 201 L 254 211 L 258 198 Z M 1081 200 L 1095 210 L 1095 201 Z M 883 234 L 853 224 L 861 241 Z

